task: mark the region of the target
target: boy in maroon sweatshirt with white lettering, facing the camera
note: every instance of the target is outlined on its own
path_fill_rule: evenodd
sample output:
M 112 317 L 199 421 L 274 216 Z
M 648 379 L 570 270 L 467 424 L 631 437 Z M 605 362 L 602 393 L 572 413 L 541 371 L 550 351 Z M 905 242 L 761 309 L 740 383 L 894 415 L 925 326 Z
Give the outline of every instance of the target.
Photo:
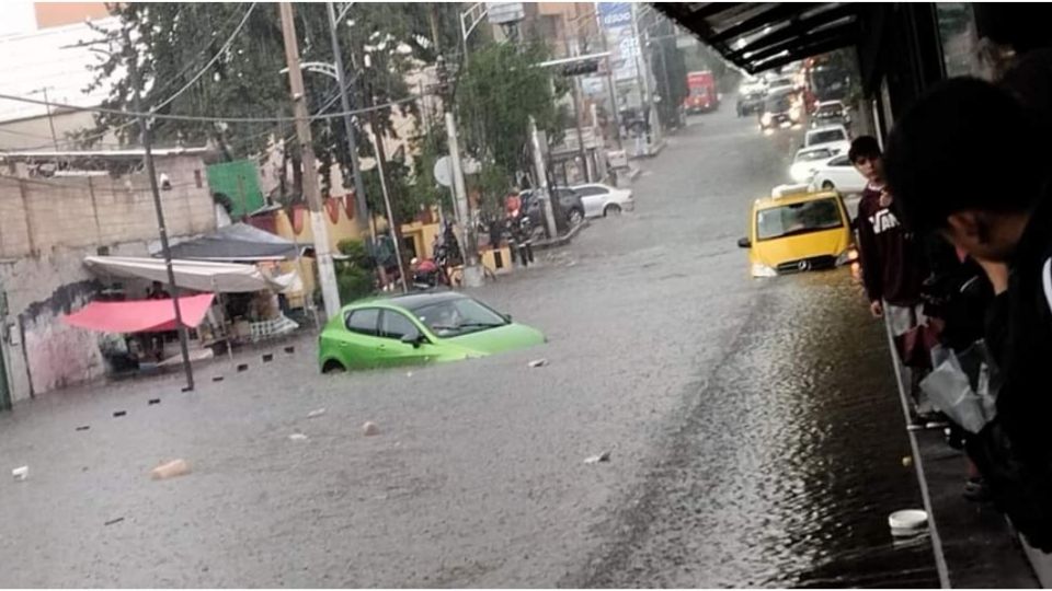
M 912 232 L 899 220 L 897 208 L 884 179 L 880 144 L 872 136 L 851 142 L 848 159 L 866 177 L 867 185 L 858 202 L 858 253 L 862 283 L 873 317 L 887 316 L 891 334 L 900 341 L 918 325 L 926 323 L 921 289 L 928 276 L 924 251 Z M 904 351 L 897 351 L 900 359 Z M 930 408 L 922 404 L 922 368 L 907 368 L 914 422 L 924 424 Z

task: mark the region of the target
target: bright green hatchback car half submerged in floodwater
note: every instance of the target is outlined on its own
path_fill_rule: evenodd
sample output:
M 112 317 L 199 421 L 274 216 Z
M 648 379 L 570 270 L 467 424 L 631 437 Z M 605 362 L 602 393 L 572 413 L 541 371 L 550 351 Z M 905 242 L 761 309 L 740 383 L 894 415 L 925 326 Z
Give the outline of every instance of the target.
M 410 293 L 344 306 L 319 337 L 318 362 L 329 373 L 457 361 L 544 341 L 536 328 L 461 293 Z

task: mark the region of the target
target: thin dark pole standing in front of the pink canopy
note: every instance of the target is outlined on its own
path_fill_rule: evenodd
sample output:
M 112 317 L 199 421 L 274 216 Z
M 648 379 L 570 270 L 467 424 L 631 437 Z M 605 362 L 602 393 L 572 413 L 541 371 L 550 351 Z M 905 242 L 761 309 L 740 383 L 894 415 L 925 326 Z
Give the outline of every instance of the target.
M 146 174 L 150 177 L 150 193 L 153 194 L 153 210 L 157 212 L 157 230 L 161 235 L 161 253 L 164 256 L 164 269 L 168 271 L 168 290 L 172 294 L 172 308 L 175 310 L 175 328 L 179 332 L 179 350 L 183 356 L 183 370 L 186 372 L 186 387 L 183 392 L 194 390 L 194 370 L 190 367 L 190 347 L 186 345 L 186 326 L 183 324 L 183 313 L 179 309 L 179 287 L 175 285 L 175 269 L 172 268 L 172 251 L 168 243 L 168 227 L 164 224 L 164 209 L 161 206 L 161 192 L 157 187 L 157 169 L 153 166 L 153 152 L 150 149 L 150 124 L 142 112 L 141 84 L 139 80 L 139 55 L 132 44 L 132 35 L 127 27 L 124 35 L 124 50 L 128 59 L 128 76 L 132 79 L 132 105 L 139 119 L 139 134 L 142 139 L 142 153 L 146 163 Z

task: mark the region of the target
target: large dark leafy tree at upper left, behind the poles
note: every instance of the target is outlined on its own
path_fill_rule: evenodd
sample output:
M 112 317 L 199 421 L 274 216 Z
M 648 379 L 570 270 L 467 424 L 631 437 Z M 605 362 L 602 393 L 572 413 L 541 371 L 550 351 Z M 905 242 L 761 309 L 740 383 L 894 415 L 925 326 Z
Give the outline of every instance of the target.
M 139 54 L 144 81 L 144 105 L 158 113 L 186 116 L 288 117 L 291 105 L 285 67 L 284 43 L 277 7 L 267 3 L 163 3 L 127 2 L 111 4 L 111 12 L 130 32 Z M 343 61 L 355 92 L 353 107 L 371 106 L 410 96 L 404 74 L 438 56 L 439 46 L 458 47 L 456 4 L 355 4 L 339 23 Z M 295 10 L 302 61 L 333 61 L 329 20 L 323 3 L 298 3 Z M 124 42 L 110 35 L 108 56 L 95 67 L 92 89 L 111 85 L 103 106 L 132 109 Z M 339 88 L 328 77 L 304 77 L 311 113 L 339 111 Z M 176 95 L 176 91 L 179 94 Z M 395 107 L 411 114 L 413 104 Z M 377 113 L 378 131 L 399 137 L 392 124 L 392 108 Z M 359 157 L 371 155 L 364 130 L 370 117 L 354 117 Z M 313 148 L 321 164 L 322 188 L 330 188 L 331 166 L 343 169 L 350 182 L 350 153 L 343 123 L 339 118 L 312 121 Z M 100 113 L 93 129 L 78 135 L 83 144 L 115 132 L 124 142 L 137 140 L 134 121 L 119 115 Z M 273 142 L 291 140 L 290 121 L 227 121 L 158 119 L 153 135 L 159 143 L 204 143 L 211 141 L 229 159 L 261 155 Z M 288 193 L 301 193 L 298 146 L 286 142 L 294 178 Z M 397 169 L 397 166 L 395 166 Z M 395 172 L 395 171 L 392 171 Z M 397 188 L 397 187 L 396 187 Z M 379 196 L 379 193 L 376 194 Z M 369 194 L 371 199 L 373 195 Z

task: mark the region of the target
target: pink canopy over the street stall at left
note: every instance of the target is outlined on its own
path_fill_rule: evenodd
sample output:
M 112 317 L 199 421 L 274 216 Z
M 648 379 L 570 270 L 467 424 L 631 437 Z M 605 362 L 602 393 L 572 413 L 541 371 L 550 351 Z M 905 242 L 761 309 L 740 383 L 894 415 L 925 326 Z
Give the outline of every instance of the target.
M 179 299 L 183 324 L 194 328 L 205 320 L 214 293 Z M 91 302 L 77 312 L 62 316 L 70 326 L 103 333 L 159 333 L 175 329 L 175 306 L 172 300 L 134 300 L 126 302 Z

